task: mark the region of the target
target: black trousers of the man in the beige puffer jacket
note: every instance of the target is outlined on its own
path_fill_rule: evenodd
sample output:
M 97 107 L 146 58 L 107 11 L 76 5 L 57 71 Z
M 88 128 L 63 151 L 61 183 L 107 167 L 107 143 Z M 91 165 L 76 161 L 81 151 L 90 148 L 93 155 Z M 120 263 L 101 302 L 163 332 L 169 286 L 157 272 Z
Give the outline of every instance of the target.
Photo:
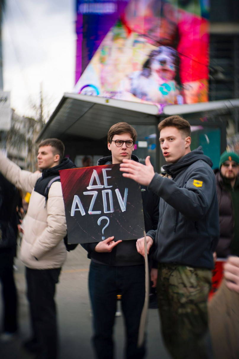
M 37 341 L 39 359 L 57 359 L 58 333 L 54 295 L 61 268 L 26 268 L 27 297 L 33 339 Z

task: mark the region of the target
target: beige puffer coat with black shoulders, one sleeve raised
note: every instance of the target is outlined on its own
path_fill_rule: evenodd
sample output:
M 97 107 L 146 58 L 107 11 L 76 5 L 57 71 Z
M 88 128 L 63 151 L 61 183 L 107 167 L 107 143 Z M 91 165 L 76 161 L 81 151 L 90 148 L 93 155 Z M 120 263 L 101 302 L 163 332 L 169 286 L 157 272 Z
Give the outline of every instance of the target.
M 28 268 L 53 269 L 62 266 L 66 259 L 63 238 L 66 235 L 66 218 L 61 182 L 52 183 L 48 201 L 34 191 L 35 183 L 42 176 L 21 170 L 0 153 L 0 171 L 17 188 L 30 192 L 27 214 L 24 218 L 24 235 L 20 258 Z

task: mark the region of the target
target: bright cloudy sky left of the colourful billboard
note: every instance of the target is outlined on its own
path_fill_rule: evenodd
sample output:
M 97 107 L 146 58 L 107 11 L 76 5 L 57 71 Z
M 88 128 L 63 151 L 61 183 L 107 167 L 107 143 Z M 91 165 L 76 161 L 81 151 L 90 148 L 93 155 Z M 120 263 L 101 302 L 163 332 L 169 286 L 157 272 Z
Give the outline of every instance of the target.
M 6 0 L 3 23 L 4 91 L 11 107 L 30 115 L 40 84 L 51 113 L 75 78 L 75 0 Z

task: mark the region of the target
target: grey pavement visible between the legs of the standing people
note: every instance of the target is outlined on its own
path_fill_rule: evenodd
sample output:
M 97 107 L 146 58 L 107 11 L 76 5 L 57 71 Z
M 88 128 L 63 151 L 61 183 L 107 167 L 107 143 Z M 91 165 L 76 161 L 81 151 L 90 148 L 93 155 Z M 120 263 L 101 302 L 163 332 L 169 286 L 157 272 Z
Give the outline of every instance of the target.
M 60 337 L 59 359 L 94 359 L 90 340 L 92 318 L 87 288 L 89 263 L 86 251 L 79 245 L 74 251 L 68 253 L 67 261 L 62 268 L 56 295 Z M 14 341 L 0 343 L 0 358 L 34 359 L 34 355 L 26 353 L 21 348 L 21 341 L 30 335 L 30 326 L 28 302 L 25 295 L 24 266 L 18 259 L 15 264 L 18 267 L 15 279 L 19 296 L 20 330 Z M 1 299 L 0 310 L 2 312 Z M 124 326 L 122 316 L 115 318 L 114 337 L 115 359 L 123 359 Z M 170 358 L 162 344 L 157 309 L 148 311 L 147 347 L 148 354 L 145 359 Z

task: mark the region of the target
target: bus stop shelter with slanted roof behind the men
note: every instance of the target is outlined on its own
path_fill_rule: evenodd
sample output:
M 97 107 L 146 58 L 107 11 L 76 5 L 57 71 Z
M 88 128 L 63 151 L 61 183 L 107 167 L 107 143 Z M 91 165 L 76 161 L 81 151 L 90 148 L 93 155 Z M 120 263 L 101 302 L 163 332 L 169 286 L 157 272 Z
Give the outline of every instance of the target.
M 218 166 L 220 154 L 226 149 L 226 123 L 239 99 L 201 102 L 195 104 L 165 105 L 137 103 L 118 99 L 64 93 L 49 121 L 40 132 L 37 142 L 49 137 L 61 139 L 65 154 L 76 162 L 77 158 L 96 158 L 109 155 L 107 132 L 114 123 L 125 121 L 138 134 L 134 154 L 144 163 L 147 155 L 156 171 L 165 163 L 161 155 L 157 125 L 165 117 L 180 115 L 190 122 L 192 130 L 191 149 L 202 146 L 214 164 Z

